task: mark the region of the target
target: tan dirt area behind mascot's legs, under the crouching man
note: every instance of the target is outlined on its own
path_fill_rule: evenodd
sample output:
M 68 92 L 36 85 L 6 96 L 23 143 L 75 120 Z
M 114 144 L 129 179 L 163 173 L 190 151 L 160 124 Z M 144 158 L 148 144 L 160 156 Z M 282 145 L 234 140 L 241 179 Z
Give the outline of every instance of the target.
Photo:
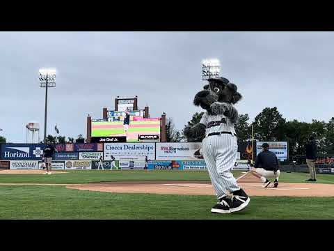
M 239 183 L 250 196 L 334 197 L 334 185 L 280 183 L 278 188 L 262 188 L 262 183 Z M 170 195 L 215 195 L 210 183 L 189 181 L 112 182 L 67 185 L 66 188 L 100 192 L 154 193 Z

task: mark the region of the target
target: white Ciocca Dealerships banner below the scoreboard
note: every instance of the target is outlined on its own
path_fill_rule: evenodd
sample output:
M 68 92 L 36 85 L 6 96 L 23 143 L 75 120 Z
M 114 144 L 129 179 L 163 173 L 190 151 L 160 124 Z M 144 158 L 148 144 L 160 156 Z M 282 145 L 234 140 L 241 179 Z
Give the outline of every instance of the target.
M 120 158 L 128 159 L 145 159 L 148 156 L 148 160 L 155 159 L 155 144 L 154 143 L 105 143 L 104 144 L 104 160 L 111 160 L 113 155 L 116 160 Z

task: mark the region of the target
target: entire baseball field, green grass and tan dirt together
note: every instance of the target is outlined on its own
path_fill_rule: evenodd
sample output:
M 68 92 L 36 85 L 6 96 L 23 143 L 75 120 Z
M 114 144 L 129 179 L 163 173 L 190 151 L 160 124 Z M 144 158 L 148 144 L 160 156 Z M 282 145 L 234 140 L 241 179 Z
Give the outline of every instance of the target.
M 215 215 L 207 210 L 215 194 L 206 171 L 65 170 L 45 176 L 42 170 L 0 170 L 0 218 L 333 219 L 334 176 L 319 174 L 317 183 L 301 183 L 306 177 L 282 172 L 279 188 L 262 188 L 247 174 L 238 185 L 252 203 L 240 213 Z M 136 213 L 127 210 L 134 205 Z

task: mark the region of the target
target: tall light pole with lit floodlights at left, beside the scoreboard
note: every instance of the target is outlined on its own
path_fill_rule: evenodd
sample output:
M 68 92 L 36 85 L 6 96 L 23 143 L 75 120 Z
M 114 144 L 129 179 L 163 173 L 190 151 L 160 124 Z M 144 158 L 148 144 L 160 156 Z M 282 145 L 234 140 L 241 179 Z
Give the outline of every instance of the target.
M 45 87 L 44 143 L 47 143 L 47 89 L 56 87 L 56 70 L 42 68 L 39 70 L 40 87 Z

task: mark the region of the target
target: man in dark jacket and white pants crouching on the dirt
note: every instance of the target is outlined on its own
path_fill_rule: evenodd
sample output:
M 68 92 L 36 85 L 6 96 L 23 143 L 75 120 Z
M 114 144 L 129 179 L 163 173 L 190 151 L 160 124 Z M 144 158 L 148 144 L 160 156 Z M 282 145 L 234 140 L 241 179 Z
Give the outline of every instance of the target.
M 269 144 L 262 144 L 263 151 L 256 157 L 254 167 L 250 169 L 250 173 L 257 178 L 261 178 L 264 183 L 263 187 L 267 188 L 271 183 L 268 178 L 275 178 L 273 187 L 278 187 L 278 178 L 280 177 L 280 164 L 275 153 L 269 151 Z

